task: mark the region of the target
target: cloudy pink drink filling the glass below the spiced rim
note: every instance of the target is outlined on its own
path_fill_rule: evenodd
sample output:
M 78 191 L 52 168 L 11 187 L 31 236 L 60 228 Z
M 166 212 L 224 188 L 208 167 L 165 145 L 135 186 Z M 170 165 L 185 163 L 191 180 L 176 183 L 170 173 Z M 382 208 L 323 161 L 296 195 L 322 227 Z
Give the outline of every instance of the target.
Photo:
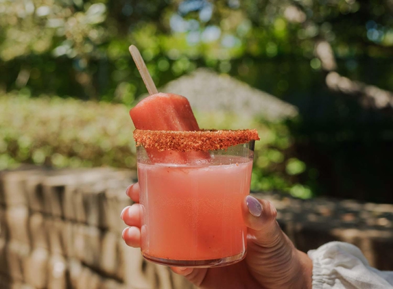
M 161 264 L 217 266 L 241 260 L 250 157 L 215 155 L 198 165 L 138 162 L 143 255 Z M 176 260 L 172 262 L 172 260 Z

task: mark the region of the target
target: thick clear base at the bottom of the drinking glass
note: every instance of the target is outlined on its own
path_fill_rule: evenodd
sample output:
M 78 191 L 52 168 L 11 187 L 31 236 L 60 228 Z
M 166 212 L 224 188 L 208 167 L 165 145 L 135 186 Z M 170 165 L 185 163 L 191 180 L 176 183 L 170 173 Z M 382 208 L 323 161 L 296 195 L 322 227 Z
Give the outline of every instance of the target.
M 174 267 L 187 267 L 187 268 L 211 268 L 228 266 L 240 262 L 246 257 L 247 251 L 230 257 L 224 257 L 219 259 L 211 260 L 170 260 L 158 257 L 152 257 L 142 252 L 143 257 L 150 262 L 154 262 L 160 265 L 174 266 Z

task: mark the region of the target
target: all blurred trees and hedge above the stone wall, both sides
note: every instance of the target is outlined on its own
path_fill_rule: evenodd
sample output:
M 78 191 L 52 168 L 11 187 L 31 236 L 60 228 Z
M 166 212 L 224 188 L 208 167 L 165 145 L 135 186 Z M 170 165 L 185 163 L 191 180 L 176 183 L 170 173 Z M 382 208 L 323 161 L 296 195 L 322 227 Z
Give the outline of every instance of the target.
M 259 128 L 255 190 L 393 202 L 392 118 L 329 91 L 314 54 L 325 40 L 338 73 L 393 90 L 392 12 L 392 0 L 0 0 L 0 168 L 134 167 L 134 44 L 158 87 L 207 66 L 299 108 L 281 123 L 198 117 Z

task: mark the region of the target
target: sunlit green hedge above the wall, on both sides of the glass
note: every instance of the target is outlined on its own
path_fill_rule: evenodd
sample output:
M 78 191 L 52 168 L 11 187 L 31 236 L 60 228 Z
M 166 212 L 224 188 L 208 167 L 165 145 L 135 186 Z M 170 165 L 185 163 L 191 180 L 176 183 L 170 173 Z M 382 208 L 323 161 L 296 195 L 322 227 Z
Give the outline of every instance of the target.
M 60 99 L 0 97 L 0 169 L 22 163 L 54 167 L 135 168 L 134 126 L 126 105 Z M 199 114 L 200 127 L 257 128 L 252 190 L 281 190 L 311 197 L 298 183 L 305 164 L 294 158 L 284 123 L 250 121 L 228 114 Z

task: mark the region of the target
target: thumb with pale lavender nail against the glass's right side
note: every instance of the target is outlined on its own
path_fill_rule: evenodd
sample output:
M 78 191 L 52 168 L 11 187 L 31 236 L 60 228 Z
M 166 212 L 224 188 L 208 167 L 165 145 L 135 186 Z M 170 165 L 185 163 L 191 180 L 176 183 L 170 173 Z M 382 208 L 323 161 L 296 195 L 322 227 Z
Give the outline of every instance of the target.
M 276 221 L 277 210 L 270 201 L 256 199 L 248 195 L 242 204 L 243 220 L 248 235 L 261 247 L 274 247 L 284 234 Z

